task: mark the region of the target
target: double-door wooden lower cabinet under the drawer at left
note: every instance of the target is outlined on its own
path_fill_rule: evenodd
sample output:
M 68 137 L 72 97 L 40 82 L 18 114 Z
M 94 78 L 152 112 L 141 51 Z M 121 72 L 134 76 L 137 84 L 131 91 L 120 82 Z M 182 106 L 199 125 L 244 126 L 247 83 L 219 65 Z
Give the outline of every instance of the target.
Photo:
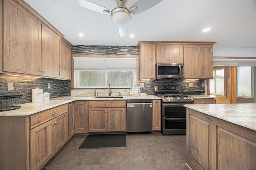
M 67 113 L 30 130 L 30 169 L 41 169 L 68 139 Z

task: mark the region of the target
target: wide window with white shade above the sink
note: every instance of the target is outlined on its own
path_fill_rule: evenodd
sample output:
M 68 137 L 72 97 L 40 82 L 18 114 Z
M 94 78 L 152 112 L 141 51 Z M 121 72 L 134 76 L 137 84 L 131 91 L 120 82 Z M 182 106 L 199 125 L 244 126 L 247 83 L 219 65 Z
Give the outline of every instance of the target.
M 136 58 L 74 58 L 75 88 L 130 88 L 136 85 Z

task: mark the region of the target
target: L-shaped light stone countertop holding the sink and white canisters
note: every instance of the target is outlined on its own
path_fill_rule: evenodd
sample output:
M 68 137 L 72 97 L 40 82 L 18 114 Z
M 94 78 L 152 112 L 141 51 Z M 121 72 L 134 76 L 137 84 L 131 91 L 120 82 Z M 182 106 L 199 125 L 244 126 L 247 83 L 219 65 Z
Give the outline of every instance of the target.
M 64 96 L 59 98 L 50 99 L 50 101 L 38 102 L 38 103 L 26 103 L 22 104 L 20 109 L 10 111 L 0 111 L 0 116 L 28 116 L 40 111 L 51 109 L 63 104 L 68 104 L 74 101 L 97 101 L 97 100 L 144 100 L 144 99 L 161 99 L 160 97 L 148 95 L 148 96 L 123 96 L 123 98 L 95 98 L 95 96 Z

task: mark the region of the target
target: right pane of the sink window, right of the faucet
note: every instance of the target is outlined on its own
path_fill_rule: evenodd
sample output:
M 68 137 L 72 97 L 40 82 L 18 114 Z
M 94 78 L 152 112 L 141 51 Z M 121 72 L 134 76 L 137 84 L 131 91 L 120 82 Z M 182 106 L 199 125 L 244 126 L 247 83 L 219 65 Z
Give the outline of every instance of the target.
M 107 76 L 111 86 L 133 86 L 136 71 L 108 70 Z

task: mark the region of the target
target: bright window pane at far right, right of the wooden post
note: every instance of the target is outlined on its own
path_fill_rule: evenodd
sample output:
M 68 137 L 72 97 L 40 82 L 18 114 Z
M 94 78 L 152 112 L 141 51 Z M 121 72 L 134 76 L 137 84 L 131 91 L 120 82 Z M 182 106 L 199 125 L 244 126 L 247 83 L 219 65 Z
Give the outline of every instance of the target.
M 237 67 L 237 96 L 252 97 L 251 67 Z

